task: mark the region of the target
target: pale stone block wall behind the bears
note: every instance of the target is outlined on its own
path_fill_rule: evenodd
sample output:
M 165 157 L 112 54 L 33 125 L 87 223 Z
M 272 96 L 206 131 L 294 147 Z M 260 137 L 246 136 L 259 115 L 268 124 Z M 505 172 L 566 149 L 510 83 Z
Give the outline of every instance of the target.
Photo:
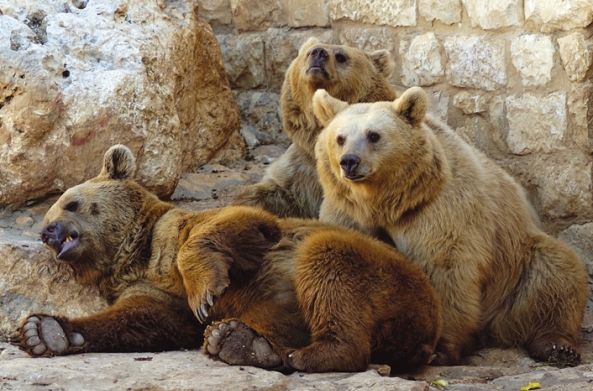
M 200 0 L 249 146 L 287 142 L 283 75 L 310 36 L 388 49 L 400 91 L 512 173 L 545 229 L 593 265 L 591 0 Z M 592 270 L 593 271 L 593 270 Z

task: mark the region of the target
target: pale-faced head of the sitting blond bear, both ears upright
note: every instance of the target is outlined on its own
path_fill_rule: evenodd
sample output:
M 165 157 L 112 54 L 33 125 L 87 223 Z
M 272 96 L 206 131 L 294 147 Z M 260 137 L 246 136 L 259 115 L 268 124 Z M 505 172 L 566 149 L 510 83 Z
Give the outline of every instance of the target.
M 393 102 L 353 105 L 318 90 L 313 110 L 325 126 L 315 147 L 318 165 L 349 184 L 382 180 L 376 178 L 378 172 L 394 172 L 414 161 L 425 144 L 428 97 L 419 87 Z

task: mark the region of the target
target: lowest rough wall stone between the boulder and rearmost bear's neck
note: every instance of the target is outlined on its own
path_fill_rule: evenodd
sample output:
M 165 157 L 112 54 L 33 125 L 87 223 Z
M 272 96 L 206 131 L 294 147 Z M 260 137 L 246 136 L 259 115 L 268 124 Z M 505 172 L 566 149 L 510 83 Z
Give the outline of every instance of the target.
M 290 144 L 288 135 L 283 132 L 280 94 L 243 91 L 235 96 L 243 116 L 241 132 L 249 131 L 261 144 Z

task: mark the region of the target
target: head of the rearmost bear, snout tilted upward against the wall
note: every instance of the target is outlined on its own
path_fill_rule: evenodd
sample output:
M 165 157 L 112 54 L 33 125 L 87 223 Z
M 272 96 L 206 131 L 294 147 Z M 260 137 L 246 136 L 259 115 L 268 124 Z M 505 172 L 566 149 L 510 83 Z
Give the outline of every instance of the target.
M 394 99 L 388 78 L 395 64 L 387 50 L 365 52 L 346 45 L 329 45 L 309 38 L 287 72 L 294 91 L 305 86 L 311 95 L 320 88 L 344 101 L 373 102 Z M 373 99 L 369 96 L 383 95 Z M 393 96 L 391 96 L 393 95 Z

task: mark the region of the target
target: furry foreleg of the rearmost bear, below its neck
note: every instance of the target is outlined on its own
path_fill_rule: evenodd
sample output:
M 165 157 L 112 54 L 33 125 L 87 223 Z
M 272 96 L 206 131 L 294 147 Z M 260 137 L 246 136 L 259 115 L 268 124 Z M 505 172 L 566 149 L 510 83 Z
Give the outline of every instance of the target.
M 260 207 L 278 217 L 317 218 L 322 195 L 315 160 L 293 144 L 233 205 Z

